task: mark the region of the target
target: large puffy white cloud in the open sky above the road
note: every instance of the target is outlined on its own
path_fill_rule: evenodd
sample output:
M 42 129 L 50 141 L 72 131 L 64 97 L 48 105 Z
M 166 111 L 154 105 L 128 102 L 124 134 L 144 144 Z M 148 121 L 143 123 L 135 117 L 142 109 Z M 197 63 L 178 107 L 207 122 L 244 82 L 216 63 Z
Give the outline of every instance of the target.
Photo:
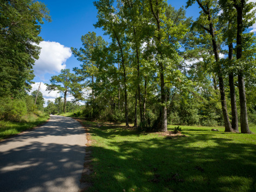
M 34 72 L 41 78 L 44 74 L 59 73 L 61 69 L 66 68 L 66 60 L 71 57 L 71 48 L 65 47 L 58 42 L 42 41 L 39 46 L 41 53 L 39 60 L 35 61 Z

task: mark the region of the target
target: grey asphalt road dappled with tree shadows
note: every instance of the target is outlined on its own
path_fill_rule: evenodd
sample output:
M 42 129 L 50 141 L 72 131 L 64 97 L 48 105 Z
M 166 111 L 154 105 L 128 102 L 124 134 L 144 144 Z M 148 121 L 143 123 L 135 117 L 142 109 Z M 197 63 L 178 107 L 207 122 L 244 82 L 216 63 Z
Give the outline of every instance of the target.
M 86 142 L 78 121 L 61 116 L 0 142 L 0 191 L 78 191 Z

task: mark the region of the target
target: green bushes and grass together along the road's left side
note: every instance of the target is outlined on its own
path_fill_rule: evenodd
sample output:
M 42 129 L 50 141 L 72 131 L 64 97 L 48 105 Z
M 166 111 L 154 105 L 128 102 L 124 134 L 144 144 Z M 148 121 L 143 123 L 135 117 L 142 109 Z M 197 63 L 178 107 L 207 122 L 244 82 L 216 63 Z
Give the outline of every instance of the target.
M 43 112 L 43 97 L 38 94 L 36 105 L 35 94 L 25 95 L 24 100 L 0 98 L 0 140 L 16 135 L 45 123 L 49 114 Z

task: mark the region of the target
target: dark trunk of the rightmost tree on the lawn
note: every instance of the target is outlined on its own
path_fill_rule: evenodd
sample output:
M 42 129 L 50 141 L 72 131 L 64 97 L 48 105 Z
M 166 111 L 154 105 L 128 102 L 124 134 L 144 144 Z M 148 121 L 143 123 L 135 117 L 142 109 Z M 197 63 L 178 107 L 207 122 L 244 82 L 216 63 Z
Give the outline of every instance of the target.
M 236 34 L 236 60 L 242 57 L 242 31 L 243 31 L 243 10 L 245 8 L 245 0 L 240 2 L 234 1 L 234 7 L 237 11 L 237 34 Z M 239 100 L 240 100 L 240 123 L 241 133 L 252 133 L 249 130 L 248 119 L 247 119 L 247 107 L 246 107 L 246 95 L 245 95 L 245 82 L 242 70 L 238 72 L 238 89 L 239 89 Z

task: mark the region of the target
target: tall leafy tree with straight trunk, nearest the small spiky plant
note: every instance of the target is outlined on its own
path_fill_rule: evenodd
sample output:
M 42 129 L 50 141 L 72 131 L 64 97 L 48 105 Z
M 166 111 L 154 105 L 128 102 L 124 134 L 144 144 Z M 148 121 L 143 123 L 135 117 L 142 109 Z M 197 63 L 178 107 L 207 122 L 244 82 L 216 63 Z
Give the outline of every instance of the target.
M 161 91 L 161 128 L 159 131 L 167 131 L 167 92 L 165 76 L 169 73 L 168 68 L 174 67 L 172 63 L 179 62 L 181 57 L 178 56 L 178 40 L 181 39 L 187 28 L 185 25 L 176 25 L 172 18 L 167 18 L 165 10 L 167 3 L 162 0 L 149 0 L 148 9 L 151 11 L 152 22 L 155 26 L 153 40 L 156 46 L 156 60 L 160 79 Z M 171 43 L 169 43 L 169 40 Z M 169 58 L 170 60 L 166 60 Z M 169 65 L 169 66 L 168 66 Z

